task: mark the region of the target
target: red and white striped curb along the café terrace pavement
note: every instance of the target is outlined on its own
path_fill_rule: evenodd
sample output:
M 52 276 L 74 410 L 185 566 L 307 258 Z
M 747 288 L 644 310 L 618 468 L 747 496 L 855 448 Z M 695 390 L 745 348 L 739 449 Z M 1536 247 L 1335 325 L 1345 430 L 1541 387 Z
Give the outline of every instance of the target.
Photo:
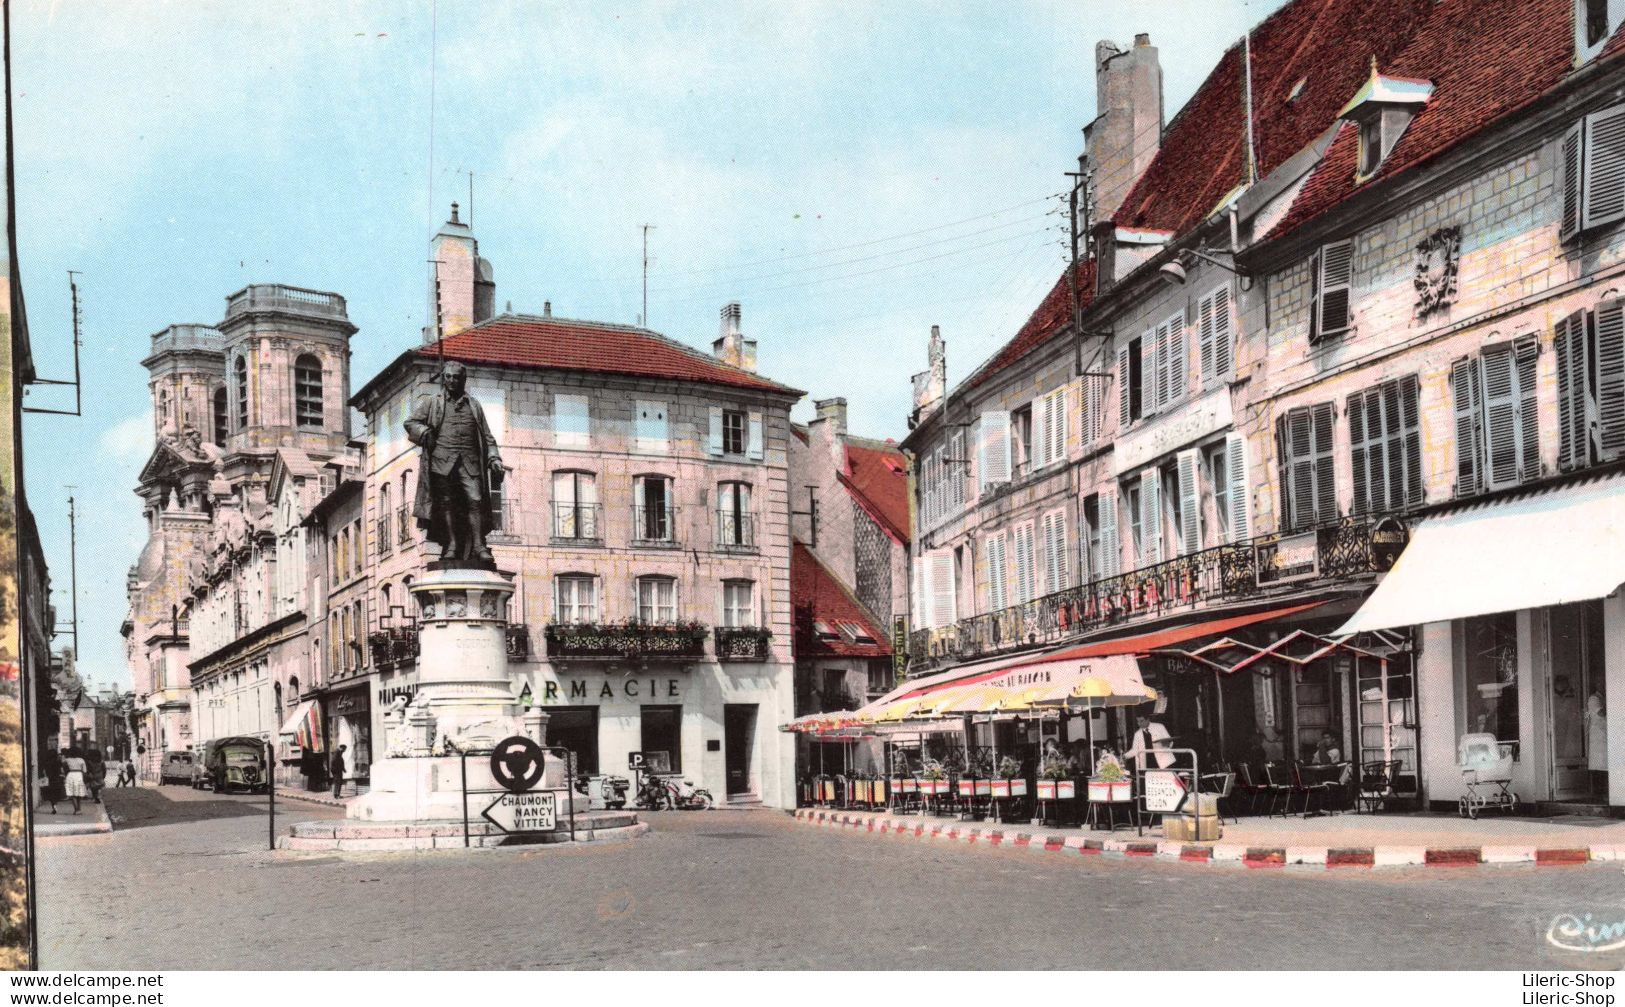
M 1476 867 L 1479 864 L 1536 864 L 1542 867 L 1625 861 L 1618 846 L 1250 846 L 1243 843 L 1170 843 L 1155 836 L 1095 840 L 1077 835 L 1016 832 L 970 822 L 942 822 L 913 815 L 889 817 L 843 810 L 798 809 L 798 822 L 855 828 L 876 836 L 949 840 L 970 846 L 1004 846 L 1035 853 L 1082 856 L 1159 858 L 1194 864 L 1243 867 Z

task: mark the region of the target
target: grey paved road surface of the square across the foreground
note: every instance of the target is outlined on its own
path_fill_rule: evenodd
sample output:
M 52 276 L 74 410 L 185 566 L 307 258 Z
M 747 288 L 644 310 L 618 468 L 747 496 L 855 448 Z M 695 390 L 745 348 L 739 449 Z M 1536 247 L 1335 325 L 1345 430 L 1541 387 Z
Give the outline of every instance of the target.
M 228 814 L 223 806 L 234 810 Z M 1248 871 L 666 812 L 603 846 L 271 854 L 265 797 L 112 797 L 39 843 L 46 968 L 1618 968 L 1617 866 Z M 335 817 L 278 802 L 289 820 Z M 132 825 L 138 823 L 138 828 Z

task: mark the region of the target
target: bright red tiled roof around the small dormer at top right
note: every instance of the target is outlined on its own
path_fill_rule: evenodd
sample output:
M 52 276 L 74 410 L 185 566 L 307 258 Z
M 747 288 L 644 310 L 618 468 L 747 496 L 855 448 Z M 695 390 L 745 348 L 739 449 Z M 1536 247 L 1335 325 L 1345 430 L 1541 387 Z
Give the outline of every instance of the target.
M 1376 179 L 1417 167 L 1472 138 L 1557 88 L 1573 68 L 1575 5 L 1524 0 L 1516 16 L 1498 0 L 1454 0 L 1432 6 L 1407 45 L 1378 70 L 1433 81 L 1433 96 L 1388 154 Z M 1625 50 L 1625 29 L 1597 60 Z M 1349 91 L 1354 94 L 1354 89 Z M 1342 128 L 1271 237 L 1326 213 L 1357 192 L 1358 135 Z

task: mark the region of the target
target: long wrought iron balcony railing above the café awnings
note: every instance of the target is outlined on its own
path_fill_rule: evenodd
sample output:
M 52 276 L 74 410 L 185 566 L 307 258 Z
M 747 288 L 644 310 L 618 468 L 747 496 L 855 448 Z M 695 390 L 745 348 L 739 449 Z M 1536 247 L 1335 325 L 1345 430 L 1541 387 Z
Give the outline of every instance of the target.
M 920 671 L 946 661 L 1061 643 L 1108 625 L 1245 601 L 1292 583 L 1372 575 L 1384 564 L 1373 536 L 1384 521 L 1394 520 L 1363 515 L 1292 534 L 1263 534 L 960 619 L 954 625 L 915 630 L 908 637 L 908 668 Z

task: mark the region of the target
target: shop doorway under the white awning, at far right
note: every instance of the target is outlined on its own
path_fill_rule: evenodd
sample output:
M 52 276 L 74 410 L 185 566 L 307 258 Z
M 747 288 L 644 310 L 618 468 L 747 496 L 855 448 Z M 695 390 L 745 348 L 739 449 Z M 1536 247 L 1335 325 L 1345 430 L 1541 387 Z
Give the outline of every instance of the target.
M 1547 744 L 1554 801 L 1607 799 L 1602 603 L 1581 601 L 1547 612 Z

